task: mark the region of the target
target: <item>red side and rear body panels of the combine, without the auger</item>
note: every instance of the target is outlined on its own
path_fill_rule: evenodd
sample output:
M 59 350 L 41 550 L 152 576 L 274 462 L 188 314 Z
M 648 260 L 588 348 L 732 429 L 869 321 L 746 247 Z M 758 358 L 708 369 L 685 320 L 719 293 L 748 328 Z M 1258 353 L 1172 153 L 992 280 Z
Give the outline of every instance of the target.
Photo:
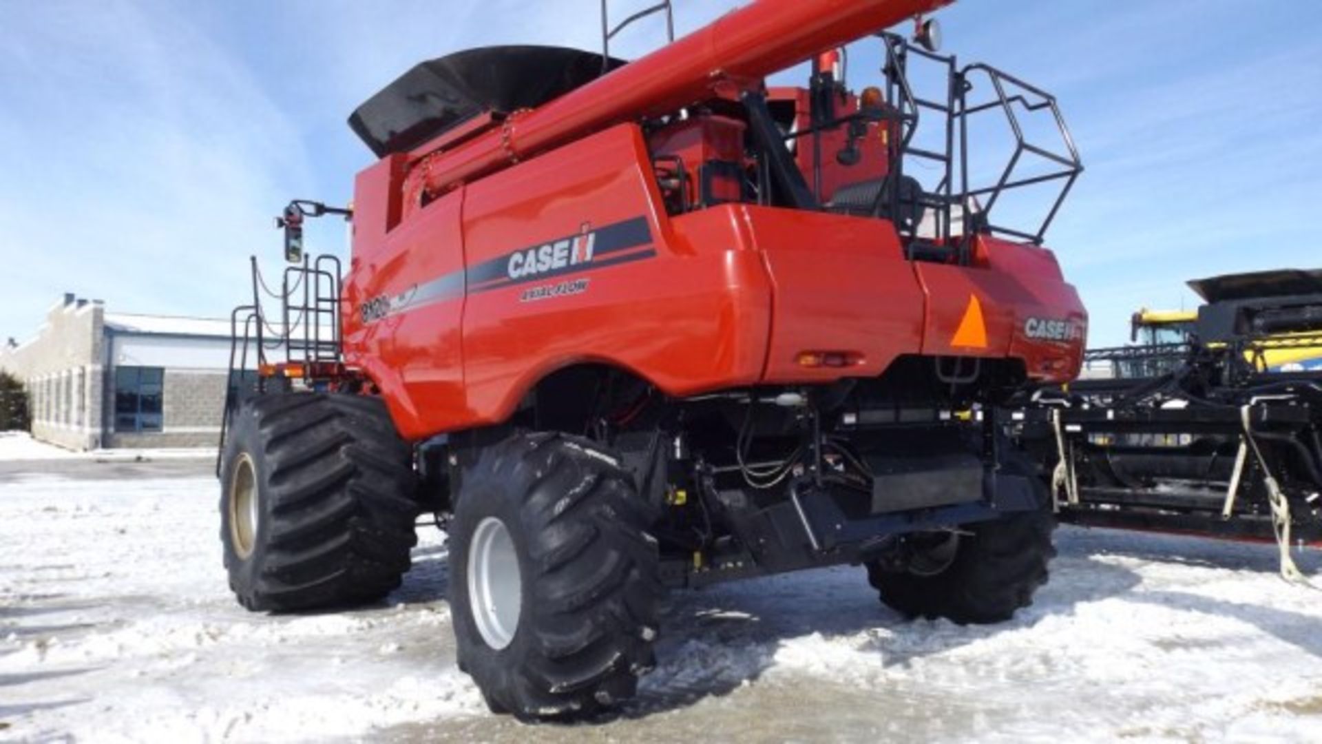
M 873 376 L 917 352 L 1015 356 L 1056 381 L 1077 368 L 1081 342 L 1021 332 L 1034 314 L 1084 318 L 1042 249 L 988 241 L 984 266 L 923 263 L 903 257 L 882 220 L 744 204 L 672 218 L 660 203 L 633 124 L 446 195 L 356 253 L 346 301 L 415 298 L 465 266 L 467 291 L 374 322 L 350 312 L 348 364 L 377 383 L 410 438 L 502 421 L 538 380 L 579 363 L 633 371 L 674 396 Z M 525 249 L 639 217 L 646 240 L 620 257 L 640 258 L 509 283 L 510 257 Z M 582 279 L 578 294 L 526 294 Z M 990 342 L 951 348 L 970 294 Z M 855 363 L 806 368 L 796 361 L 805 351 Z

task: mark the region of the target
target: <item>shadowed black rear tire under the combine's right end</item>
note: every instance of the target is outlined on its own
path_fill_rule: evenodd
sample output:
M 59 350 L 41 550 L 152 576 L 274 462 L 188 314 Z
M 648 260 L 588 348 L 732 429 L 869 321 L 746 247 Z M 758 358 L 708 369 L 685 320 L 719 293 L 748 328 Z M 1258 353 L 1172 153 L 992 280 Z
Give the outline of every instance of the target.
M 960 625 L 1003 622 L 1031 605 L 1056 555 L 1051 544 L 1056 520 L 1046 486 L 1036 478 L 1031 482 L 1039 490 L 1036 511 L 968 526 L 966 534 L 952 536 L 953 545 L 939 541 L 915 549 L 907 569 L 867 564 L 869 582 L 882 602 L 906 617 L 944 617 Z

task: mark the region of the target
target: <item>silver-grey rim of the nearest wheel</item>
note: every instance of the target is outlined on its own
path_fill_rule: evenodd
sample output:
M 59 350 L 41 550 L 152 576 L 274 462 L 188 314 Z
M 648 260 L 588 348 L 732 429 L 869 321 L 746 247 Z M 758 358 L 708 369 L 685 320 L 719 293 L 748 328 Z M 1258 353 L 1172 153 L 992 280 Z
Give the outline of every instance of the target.
M 483 641 L 497 651 L 509 646 L 524 609 L 518 553 L 505 523 L 488 516 L 468 548 L 468 604 Z

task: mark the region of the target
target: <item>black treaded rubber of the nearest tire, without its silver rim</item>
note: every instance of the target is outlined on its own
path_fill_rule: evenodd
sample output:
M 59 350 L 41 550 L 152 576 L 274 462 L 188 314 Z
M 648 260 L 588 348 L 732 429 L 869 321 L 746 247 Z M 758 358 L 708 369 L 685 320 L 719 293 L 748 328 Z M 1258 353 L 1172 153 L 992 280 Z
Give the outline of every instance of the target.
M 461 666 L 492 710 L 521 719 L 579 718 L 631 696 L 653 666 L 658 626 L 658 555 L 644 530 L 652 516 L 632 475 L 600 445 L 558 433 L 516 434 L 483 450 L 465 474 L 456 524 L 469 499 L 518 500 L 537 610 L 520 620 L 531 641 L 518 658 L 493 655 L 457 594 Z M 452 534 L 451 576 L 465 541 Z M 452 585 L 456 581 L 451 579 Z M 464 616 L 463 622 L 460 617 Z

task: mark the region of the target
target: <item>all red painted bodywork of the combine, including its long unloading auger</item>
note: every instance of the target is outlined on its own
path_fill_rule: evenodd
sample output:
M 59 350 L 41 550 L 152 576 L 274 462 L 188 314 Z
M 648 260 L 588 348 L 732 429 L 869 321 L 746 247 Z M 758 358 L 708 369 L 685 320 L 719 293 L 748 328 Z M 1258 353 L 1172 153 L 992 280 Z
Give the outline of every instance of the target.
M 452 136 L 452 150 L 365 169 L 345 279 L 346 365 L 412 440 L 501 422 L 546 375 L 583 363 L 628 369 L 672 396 L 875 376 L 912 353 L 1014 357 L 1035 379 L 1072 379 L 1083 339 L 1025 331 L 1029 320 L 1085 323 L 1050 252 L 980 238 L 969 266 L 941 265 L 907 259 L 894 226 L 873 217 L 751 204 L 672 216 L 654 156 L 738 159 L 742 124 L 697 116 L 649 143 L 635 123 L 727 97 L 714 81 L 772 71 L 943 4 L 761 0 L 518 118 L 516 150 L 531 142 L 539 154 L 516 167 L 490 150 L 500 124 L 483 120 Z M 787 28 L 789 38 L 768 41 Z M 780 99 L 800 106 L 804 95 Z M 615 119 L 629 120 L 607 126 Z M 884 171 L 876 142 L 858 168 L 837 167 L 832 147 L 832 188 Z M 455 181 L 464 184 L 423 189 Z M 982 326 L 969 336 L 972 298 Z M 980 344 L 957 343 L 968 338 Z M 846 365 L 808 367 L 805 353 Z

